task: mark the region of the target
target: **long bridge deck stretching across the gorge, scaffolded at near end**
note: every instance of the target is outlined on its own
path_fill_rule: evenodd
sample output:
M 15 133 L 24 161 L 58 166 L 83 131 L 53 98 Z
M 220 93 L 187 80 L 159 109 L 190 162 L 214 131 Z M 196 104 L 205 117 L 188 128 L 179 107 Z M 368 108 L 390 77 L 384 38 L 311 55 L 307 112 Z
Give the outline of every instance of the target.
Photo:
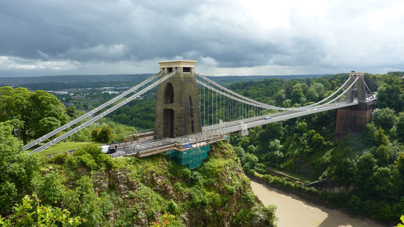
M 117 157 L 123 155 L 136 155 L 138 157 L 146 157 L 149 155 L 163 153 L 172 149 L 184 151 L 187 149 L 212 144 L 220 140 L 225 140 L 228 138 L 226 135 L 230 133 L 245 131 L 249 128 L 253 128 L 260 125 L 266 125 L 274 122 L 284 121 L 291 118 L 310 115 L 316 112 L 323 112 L 331 109 L 342 108 L 356 104 L 358 104 L 357 100 L 353 102 L 339 101 L 311 110 L 277 112 L 266 116 L 252 117 L 233 122 L 225 122 L 221 124 L 206 126 L 203 127 L 203 132 L 201 133 L 196 133 L 177 138 L 164 138 L 160 140 L 151 140 L 133 145 L 128 145 L 126 149 L 118 150 L 117 153 L 112 154 L 111 156 Z M 185 148 L 183 144 L 192 144 L 192 146 Z

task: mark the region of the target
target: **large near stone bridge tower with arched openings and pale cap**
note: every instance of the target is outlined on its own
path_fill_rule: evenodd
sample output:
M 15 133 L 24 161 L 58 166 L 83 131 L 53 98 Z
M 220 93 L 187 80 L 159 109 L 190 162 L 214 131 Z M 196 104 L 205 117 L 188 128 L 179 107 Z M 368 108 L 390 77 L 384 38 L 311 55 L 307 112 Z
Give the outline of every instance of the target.
M 194 65 L 197 61 L 158 62 L 160 78 L 177 73 L 157 88 L 154 138 L 180 137 L 202 132 Z

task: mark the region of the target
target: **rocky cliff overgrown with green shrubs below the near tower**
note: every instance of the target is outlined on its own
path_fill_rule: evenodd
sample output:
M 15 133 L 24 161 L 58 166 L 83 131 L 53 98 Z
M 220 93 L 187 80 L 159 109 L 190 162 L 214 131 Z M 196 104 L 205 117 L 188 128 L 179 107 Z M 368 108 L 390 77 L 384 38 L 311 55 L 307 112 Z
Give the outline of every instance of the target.
M 250 188 L 238 158 L 227 142 L 212 146 L 200 167 L 189 171 L 167 155 L 122 157 L 119 167 L 92 172 L 97 194 L 116 191 L 105 223 L 147 226 L 166 212 L 172 226 L 273 226 L 275 210 L 264 207 Z M 127 216 L 128 210 L 130 216 Z

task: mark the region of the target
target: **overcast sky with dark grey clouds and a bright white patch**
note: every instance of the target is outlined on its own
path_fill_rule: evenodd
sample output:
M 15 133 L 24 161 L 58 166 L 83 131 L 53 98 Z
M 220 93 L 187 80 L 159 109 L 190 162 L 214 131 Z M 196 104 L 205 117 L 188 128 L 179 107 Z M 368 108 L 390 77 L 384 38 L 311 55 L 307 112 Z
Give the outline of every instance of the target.
M 196 60 L 205 75 L 404 71 L 404 2 L 0 2 L 0 77 L 157 73 Z

